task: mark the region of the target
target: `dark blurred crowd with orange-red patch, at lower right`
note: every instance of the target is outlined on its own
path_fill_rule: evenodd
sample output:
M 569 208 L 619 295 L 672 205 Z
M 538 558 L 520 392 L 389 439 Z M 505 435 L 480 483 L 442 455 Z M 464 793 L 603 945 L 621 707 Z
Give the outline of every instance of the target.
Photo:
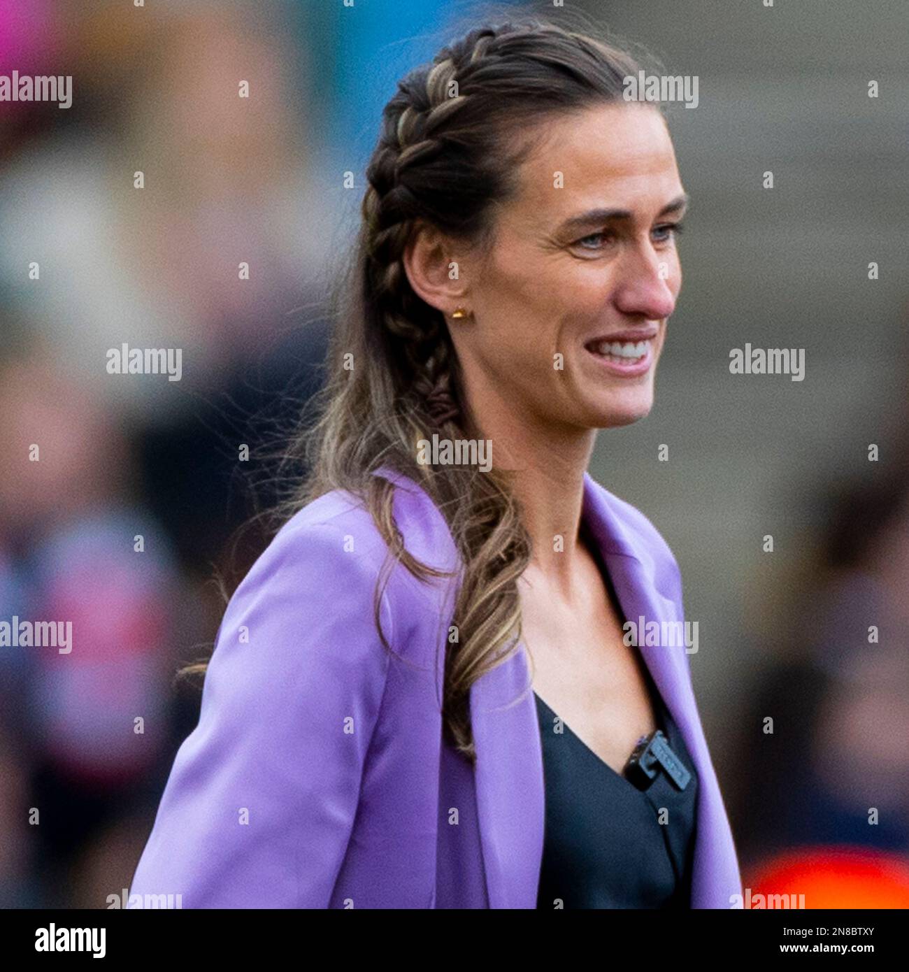
M 724 768 L 743 880 L 807 907 L 909 908 L 907 432 L 886 471 L 819 484 L 822 539 L 743 644 L 766 655 Z

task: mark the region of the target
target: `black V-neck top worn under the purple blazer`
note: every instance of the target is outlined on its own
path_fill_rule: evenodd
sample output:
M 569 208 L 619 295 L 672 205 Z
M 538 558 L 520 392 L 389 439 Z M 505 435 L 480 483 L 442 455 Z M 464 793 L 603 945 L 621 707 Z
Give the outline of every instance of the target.
M 566 723 L 555 732 L 556 713 L 534 693 L 545 784 L 538 908 L 557 899 L 563 908 L 690 907 L 697 772 L 655 688 L 651 697 L 657 725 L 691 774 L 682 790 L 662 770 L 639 789 Z

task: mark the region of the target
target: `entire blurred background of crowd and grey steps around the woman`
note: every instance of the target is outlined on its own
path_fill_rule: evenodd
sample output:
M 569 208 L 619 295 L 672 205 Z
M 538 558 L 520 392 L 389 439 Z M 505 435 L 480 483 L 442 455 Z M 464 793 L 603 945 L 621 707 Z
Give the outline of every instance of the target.
M 669 115 L 693 201 L 656 405 L 591 472 L 682 566 L 744 884 L 909 907 L 909 8 L 567 6 L 699 78 Z M 80 647 L 0 647 L 0 906 L 128 888 L 197 719 L 175 672 L 322 380 L 382 105 L 472 9 L 0 0 L 0 74 L 73 77 L 68 110 L 0 102 L 0 620 Z M 804 381 L 730 374 L 747 342 L 804 348 Z M 183 349 L 182 379 L 109 374 L 123 343 Z

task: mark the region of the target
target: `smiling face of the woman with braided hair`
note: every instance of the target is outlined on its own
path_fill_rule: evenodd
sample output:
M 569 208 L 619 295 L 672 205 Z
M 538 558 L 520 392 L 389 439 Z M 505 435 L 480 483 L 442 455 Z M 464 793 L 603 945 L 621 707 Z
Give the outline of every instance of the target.
M 519 191 L 496 212 L 491 251 L 459 260 L 472 318 L 449 328 L 480 425 L 490 408 L 574 429 L 647 415 L 682 287 L 673 227 L 683 206 L 652 106 L 546 122 Z

